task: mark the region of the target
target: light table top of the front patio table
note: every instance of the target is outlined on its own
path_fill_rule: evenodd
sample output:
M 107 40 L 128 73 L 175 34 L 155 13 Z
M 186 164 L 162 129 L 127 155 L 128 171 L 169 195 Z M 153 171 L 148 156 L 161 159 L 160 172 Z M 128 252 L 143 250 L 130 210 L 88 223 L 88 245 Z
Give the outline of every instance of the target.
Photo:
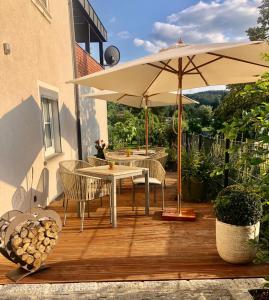
M 121 165 L 114 165 L 113 169 L 109 169 L 109 166 L 98 166 L 98 167 L 89 167 L 89 168 L 82 168 L 77 169 L 78 172 L 95 175 L 95 176 L 133 176 L 133 174 L 142 174 L 144 168 L 138 167 L 129 167 L 129 166 L 121 166 Z

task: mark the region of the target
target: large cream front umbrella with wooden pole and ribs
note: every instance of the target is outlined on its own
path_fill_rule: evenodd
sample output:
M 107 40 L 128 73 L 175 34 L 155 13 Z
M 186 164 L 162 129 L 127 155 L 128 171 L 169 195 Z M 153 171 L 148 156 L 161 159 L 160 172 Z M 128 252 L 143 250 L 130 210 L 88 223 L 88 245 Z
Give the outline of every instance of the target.
M 263 41 L 200 45 L 185 45 L 179 42 L 159 53 L 70 82 L 143 96 L 179 91 L 178 207 L 177 214 L 171 215 L 171 218 L 184 220 L 185 216 L 181 210 L 182 89 L 255 82 L 262 73 L 268 71 L 269 63 L 262 57 L 263 53 L 268 52 L 268 43 Z M 188 214 L 186 218 L 188 219 Z M 190 219 L 193 219 L 193 216 Z

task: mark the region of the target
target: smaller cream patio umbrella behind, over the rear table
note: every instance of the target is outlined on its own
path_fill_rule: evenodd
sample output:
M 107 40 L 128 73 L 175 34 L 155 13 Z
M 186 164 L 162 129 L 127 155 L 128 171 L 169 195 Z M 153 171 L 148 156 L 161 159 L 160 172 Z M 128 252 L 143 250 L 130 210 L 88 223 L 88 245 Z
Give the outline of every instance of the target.
M 160 107 L 160 106 L 169 106 L 177 104 L 177 94 L 176 93 L 161 93 L 148 95 L 146 97 L 136 96 L 127 93 L 118 93 L 112 91 L 96 91 L 90 94 L 84 95 L 84 97 L 90 97 L 94 99 L 101 99 L 108 102 L 114 102 L 117 104 L 124 104 L 131 107 L 142 108 L 144 107 L 146 116 L 145 116 L 145 141 L 146 141 L 146 155 L 148 154 L 148 133 L 149 133 L 149 117 L 148 117 L 148 108 L 150 107 Z M 195 104 L 198 103 L 195 100 L 192 100 L 186 96 L 182 96 L 182 104 Z

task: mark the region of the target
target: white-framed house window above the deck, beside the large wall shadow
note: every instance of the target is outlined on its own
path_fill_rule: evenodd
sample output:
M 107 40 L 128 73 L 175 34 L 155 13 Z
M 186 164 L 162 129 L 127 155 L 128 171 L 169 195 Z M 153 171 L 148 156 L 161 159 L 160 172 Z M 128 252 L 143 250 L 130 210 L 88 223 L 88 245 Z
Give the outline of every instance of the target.
M 58 94 L 45 88 L 40 88 L 40 93 L 45 157 L 48 157 L 62 151 Z

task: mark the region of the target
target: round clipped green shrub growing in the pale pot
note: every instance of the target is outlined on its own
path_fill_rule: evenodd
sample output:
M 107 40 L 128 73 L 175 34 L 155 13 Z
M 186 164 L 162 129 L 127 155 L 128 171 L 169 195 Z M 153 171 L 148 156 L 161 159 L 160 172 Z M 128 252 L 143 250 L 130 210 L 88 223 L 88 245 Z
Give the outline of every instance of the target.
M 231 225 L 253 225 L 262 216 L 262 203 L 258 195 L 241 185 L 223 189 L 214 201 L 214 208 L 217 219 Z

